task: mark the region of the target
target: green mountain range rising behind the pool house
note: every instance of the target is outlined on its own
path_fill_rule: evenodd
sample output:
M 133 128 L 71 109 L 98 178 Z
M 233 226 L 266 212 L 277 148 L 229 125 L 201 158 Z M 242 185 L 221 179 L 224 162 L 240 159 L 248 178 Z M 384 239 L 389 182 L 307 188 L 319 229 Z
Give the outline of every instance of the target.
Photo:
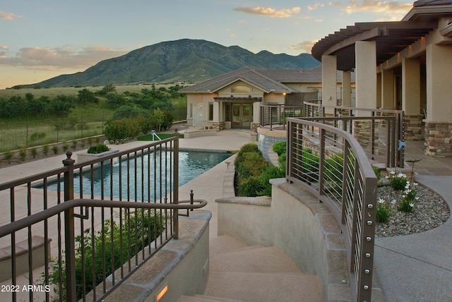
M 311 54 L 254 54 L 238 46 L 182 39 L 153 44 L 100 61 L 83 72 L 59 75 L 25 86 L 64 87 L 136 83 L 197 83 L 244 66 L 256 69 L 307 69 L 321 63 Z

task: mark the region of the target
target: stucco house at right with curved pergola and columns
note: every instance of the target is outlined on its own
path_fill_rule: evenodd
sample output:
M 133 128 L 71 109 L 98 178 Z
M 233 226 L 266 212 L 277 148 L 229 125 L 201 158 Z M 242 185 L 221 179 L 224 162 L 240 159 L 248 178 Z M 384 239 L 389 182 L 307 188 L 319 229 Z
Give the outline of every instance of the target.
M 452 156 L 452 3 L 420 0 L 397 22 L 355 23 L 314 44 L 323 96 L 355 71 L 356 106 L 405 111 L 405 139 Z M 348 84 L 343 82 L 343 87 Z M 335 99 L 323 97 L 323 104 Z

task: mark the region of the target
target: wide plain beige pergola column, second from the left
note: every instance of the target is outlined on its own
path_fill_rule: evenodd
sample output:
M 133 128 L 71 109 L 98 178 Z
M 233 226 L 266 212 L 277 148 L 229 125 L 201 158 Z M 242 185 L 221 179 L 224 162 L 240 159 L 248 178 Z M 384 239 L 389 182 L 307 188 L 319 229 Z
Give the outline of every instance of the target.
M 376 42 L 355 43 L 356 107 L 376 108 Z

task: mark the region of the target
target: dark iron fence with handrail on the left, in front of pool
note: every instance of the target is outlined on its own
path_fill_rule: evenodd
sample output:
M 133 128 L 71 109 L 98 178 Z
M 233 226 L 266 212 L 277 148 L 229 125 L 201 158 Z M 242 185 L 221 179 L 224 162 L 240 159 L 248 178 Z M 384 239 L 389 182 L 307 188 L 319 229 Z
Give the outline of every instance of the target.
M 0 183 L 0 261 L 10 267 L 0 277 L 19 289 L 12 301 L 101 301 L 177 238 L 179 209 L 206 205 L 179 201 L 178 154 L 175 133 L 77 164 L 68 152 L 59 169 Z

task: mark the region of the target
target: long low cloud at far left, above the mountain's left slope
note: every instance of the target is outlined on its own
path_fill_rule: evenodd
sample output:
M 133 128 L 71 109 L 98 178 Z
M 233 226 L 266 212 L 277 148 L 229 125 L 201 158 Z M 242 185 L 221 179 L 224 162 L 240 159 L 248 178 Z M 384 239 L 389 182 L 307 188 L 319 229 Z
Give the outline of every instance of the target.
M 16 56 L 1 56 L 0 65 L 23 66 L 34 69 L 62 69 L 87 68 L 98 62 L 121 56 L 129 52 L 128 49 L 109 49 L 95 45 L 82 49 L 64 47 L 40 48 L 24 47 L 19 49 Z

